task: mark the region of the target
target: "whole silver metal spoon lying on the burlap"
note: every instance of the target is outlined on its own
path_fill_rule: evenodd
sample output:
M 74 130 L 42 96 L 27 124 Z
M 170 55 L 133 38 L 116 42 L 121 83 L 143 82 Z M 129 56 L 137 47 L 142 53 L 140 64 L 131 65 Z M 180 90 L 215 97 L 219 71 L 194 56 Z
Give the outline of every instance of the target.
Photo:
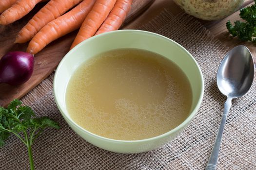
M 245 95 L 254 80 L 254 61 L 251 52 L 245 46 L 237 46 L 227 53 L 217 72 L 219 91 L 227 96 L 224 113 L 220 122 L 217 138 L 211 157 L 205 170 L 216 170 L 221 138 L 232 99 Z

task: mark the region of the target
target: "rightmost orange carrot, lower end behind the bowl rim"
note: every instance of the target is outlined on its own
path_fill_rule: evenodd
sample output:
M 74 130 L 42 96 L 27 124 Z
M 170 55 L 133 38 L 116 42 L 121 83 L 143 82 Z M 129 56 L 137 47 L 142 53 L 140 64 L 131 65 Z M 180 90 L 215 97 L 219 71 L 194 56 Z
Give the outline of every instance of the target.
M 117 0 L 113 10 L 110 12 L 103 24 L 99 27 L 95 35 L 118 30 L 128 12 L 130 11 L 132 3 L 133 0 Z

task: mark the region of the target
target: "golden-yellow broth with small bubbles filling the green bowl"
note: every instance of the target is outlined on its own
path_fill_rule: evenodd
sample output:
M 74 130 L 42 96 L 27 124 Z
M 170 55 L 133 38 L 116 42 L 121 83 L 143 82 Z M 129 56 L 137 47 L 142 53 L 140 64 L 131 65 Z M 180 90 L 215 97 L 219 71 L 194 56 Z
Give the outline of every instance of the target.
M 190 112 L 192 91 L 176 64 L 150 51 L 119 49 L 89 59 L 66 91 L 71 118 L 118 140 L 139 140 L 177 127 Z

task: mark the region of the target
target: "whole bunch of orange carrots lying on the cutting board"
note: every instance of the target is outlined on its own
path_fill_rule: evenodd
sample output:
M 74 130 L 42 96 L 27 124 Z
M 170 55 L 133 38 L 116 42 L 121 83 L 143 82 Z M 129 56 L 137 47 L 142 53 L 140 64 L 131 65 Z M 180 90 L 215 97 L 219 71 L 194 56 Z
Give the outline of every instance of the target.
M 17 0 L 0 15 L 0 24 L 7 25 L 20 19 L 44 1 L 47 0 Z M 86 2 L 88 6 L 85 6 Z M 27 51 L 36 54 L 50 42 L 80 27 L 72 49 L 91 36 L 118 30 L 131 5 L 132 0 L 50 0 L 20 30 L 15 43 L 32 39 Z

